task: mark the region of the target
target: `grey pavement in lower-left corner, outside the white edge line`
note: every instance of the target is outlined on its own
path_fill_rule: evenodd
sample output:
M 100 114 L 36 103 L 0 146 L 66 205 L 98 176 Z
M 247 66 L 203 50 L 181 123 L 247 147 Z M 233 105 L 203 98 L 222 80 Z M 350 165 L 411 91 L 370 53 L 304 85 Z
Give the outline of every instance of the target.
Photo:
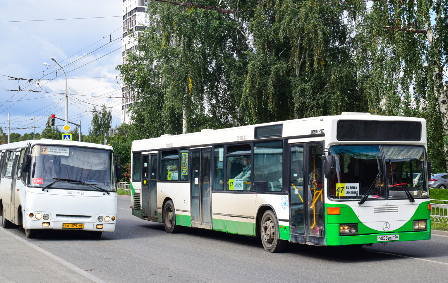
M 90 279 L 39 252 L 0 227 L 0 283 L 92 283 Z

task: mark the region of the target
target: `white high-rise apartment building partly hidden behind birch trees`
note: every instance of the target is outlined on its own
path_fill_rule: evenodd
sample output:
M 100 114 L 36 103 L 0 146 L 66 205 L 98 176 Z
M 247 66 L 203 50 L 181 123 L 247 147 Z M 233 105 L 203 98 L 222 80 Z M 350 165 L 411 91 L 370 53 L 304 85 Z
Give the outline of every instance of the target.
M 123 0 L 123 37 L 121 39 L 121 62 L 126 62 L 126 51 L 137 48 L 138 40 L 129 33 L 140 30 L 146 24 L 146 7 L 148 0 Z M 126 86 L 121 89 L 121 123 L 129 123 L 128 108 L 133 102 L 134 94 Z

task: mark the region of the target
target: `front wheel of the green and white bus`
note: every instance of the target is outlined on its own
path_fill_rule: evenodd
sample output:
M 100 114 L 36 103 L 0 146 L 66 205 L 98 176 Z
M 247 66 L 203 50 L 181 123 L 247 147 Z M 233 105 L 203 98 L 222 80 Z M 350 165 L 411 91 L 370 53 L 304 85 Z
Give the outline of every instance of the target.
M 288 242 L 280 240 L 279 224 L 272 210 L 266 210 L 260 225 L 260 236 L 264 249 L 270 253 L 283 252 Z

